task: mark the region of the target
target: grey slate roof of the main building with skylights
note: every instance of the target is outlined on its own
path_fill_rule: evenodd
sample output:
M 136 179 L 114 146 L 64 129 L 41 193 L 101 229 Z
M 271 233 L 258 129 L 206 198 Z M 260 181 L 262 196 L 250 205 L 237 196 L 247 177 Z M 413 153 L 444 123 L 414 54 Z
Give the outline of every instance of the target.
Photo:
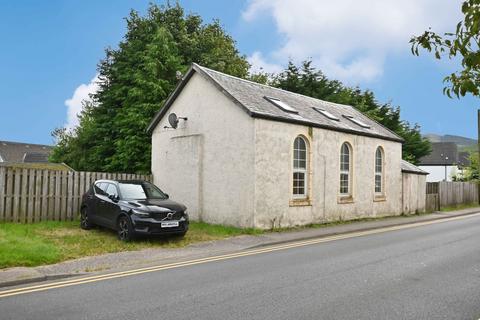
M 220 91 L 230 98 L 230 100 L 242 107 L 251 117 L 403 142 L 403 139 L 394 132 L 368 118 L 352 106 L 331 103 L 267 85 L 258 84 L 211 70 L 199 66 L 198 64 L 193 64 L 185 74 L 175 91 L 167 99 L 165 106 L 153 118 L 147 129 L 148 132 L 153 131 L 195 72 L 212 82 Z M 282 102 L 287 103 L 290 107 L 296 109 L 298 113 L 286 112 L 268 101 L 266 97 L 279 99 Z M 314 108 L 325 110 L 339 120 L 331 120 L 316 111 Z M 368 125 L 368 128 L 353 122 L 348 119 L 348 117 L 360 120 Z

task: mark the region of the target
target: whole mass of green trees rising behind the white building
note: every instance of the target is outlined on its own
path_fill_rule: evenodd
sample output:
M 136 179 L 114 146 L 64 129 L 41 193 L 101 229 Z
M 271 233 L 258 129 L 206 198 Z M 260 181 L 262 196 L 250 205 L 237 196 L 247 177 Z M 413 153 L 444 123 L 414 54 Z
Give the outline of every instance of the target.
M 245 56 L 218 20 L 204 24 L 198 15 L 185 15 L 178 5 L 152 4 L 145 16 L 132 11 L 118 48 L 108 48 L 98 64 L 100 89 L 84 101 L 79 125 L 56 129 L 51 161 L 75 170 L 148 173 L 151 137 L 146 128 L 192 62 L 272 84 L 327 101 L 349 104 L 405 139 L 403 156 L 416 163 L 430 146 L 418 126 L 400 119 L 400 109 L 379 104 L 373 92 L 349 88 L 327 79 L 312 67 L 289 63 L 278 75 L 249 74 Z

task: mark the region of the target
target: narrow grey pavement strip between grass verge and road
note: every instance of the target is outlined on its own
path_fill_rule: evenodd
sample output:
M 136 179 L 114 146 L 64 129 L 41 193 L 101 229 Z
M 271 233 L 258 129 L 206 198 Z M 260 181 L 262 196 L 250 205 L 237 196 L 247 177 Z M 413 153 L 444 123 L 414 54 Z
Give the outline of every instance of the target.
M 55 280 L 75 276 L 102 274 L 155 266 L 158 264 L 200 259 L 205 257 L 240 252 L 252 248 L 276 244 L 348 234 L 390 226 L 407 225 L 480 212 L 470 208 L 451 212 L 435 212 L 425 215 L 397 216 L 379 220 L 352 222 L 321 228 L 305 228 L 284 232 L 269 232 L 258 236 L 242 235 L 223 240 L 201 242 L 178 249 L 145 249 L 139 251 L 110 253 L 85 257 L 58 264 L 39 267 L 16 267 L 0 270 L 0 287 L 23 285 L 33 282 Z

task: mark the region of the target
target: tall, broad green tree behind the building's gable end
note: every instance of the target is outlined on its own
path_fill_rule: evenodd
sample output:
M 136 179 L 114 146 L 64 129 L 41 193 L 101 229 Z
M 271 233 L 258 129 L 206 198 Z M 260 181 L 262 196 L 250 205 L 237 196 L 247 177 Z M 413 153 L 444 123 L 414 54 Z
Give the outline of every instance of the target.
M 76 170 L 150 171 L 146 128 L 192 62 L 238 77 L 249 64 L 219 21 L 204 24 L 175 6 L 152 4 L 146 16 L 132 11 L 117 49 L 107 49 L 98 65 L 98 92 L 85 102 L 73 131 L 56 129 L 54 162 Z

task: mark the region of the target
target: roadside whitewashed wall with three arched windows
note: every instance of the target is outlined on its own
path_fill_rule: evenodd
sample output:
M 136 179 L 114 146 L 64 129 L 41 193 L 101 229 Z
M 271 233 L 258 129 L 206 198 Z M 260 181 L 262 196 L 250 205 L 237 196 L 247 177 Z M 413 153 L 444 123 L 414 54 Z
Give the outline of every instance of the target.
M 310 143 L 310 203 L 292 201 L 293 141 Z M 339 198 L 340 147 L 353 147 L 353 201 Z M 385 199 L 374 192 L 375 151 L 385 155 Z M 255 226 L 287 227 L 402 212 L 401 144 L 337 131 L 255 119 Z

